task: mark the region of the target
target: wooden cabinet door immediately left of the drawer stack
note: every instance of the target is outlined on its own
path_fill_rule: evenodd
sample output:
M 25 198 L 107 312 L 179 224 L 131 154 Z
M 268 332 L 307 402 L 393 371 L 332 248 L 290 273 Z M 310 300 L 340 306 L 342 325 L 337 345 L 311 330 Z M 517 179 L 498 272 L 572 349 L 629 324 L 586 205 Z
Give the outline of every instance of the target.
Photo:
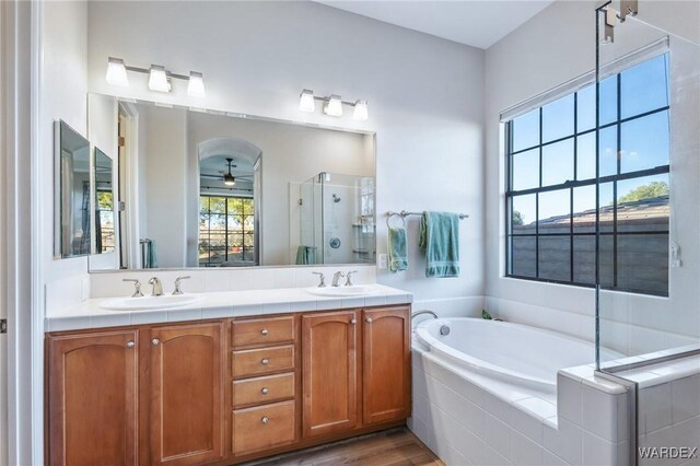
M 151 463 L 192 465 L 223 456 L 223 323 L 154 327 Z

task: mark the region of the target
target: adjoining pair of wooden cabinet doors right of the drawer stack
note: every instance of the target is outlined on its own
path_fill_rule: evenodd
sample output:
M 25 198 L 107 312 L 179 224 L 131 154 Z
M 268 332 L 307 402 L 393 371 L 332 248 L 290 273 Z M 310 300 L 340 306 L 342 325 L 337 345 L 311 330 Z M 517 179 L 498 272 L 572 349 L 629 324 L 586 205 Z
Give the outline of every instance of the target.
M 410 306 L 303 315 L 302 360 L 305 438 L 409 417 Z

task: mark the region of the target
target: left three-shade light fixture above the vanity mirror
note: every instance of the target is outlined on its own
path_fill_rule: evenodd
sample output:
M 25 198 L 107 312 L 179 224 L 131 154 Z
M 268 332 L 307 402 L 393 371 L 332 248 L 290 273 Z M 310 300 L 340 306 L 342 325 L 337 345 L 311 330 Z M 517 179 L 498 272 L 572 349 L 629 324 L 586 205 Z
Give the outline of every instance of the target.
M 149 89 L 158 92 L 172 92 L 172 80 L 178 79 L 187 81 L 187 95 L 191 97 L 206 97 L 203 74 L 198 71 L 190 71 L 189 75 L 177 74 L 159 65 L 151 65 L 151 68 L 138 68 L 127 66 L 121 58 L 109 57 L 107 59 L 107 82 L 114 85 L 129 85 L 127 71 L 143 73 L 149 75 Z

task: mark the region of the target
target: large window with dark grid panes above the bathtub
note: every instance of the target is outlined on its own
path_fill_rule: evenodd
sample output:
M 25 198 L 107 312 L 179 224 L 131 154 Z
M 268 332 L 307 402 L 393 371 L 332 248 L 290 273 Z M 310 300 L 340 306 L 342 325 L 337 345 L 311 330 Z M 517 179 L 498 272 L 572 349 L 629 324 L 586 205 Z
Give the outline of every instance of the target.
M 668 295 L 668 55 L 599 84 L 600 283 Z M 595 85 L 506 121 L 506 275 L 596 282 Z

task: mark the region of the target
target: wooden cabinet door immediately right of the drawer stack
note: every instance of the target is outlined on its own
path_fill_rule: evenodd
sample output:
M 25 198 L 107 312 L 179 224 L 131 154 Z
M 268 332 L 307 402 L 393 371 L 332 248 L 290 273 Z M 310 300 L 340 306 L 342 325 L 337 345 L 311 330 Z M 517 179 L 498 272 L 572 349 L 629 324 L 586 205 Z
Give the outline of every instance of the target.
M 357 314 L 302 316 L 305 438 L 352 429 L 358 423 Z

